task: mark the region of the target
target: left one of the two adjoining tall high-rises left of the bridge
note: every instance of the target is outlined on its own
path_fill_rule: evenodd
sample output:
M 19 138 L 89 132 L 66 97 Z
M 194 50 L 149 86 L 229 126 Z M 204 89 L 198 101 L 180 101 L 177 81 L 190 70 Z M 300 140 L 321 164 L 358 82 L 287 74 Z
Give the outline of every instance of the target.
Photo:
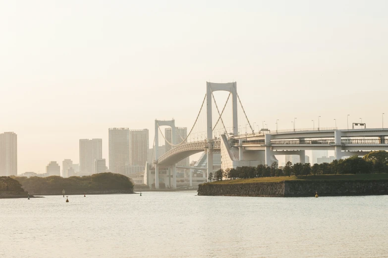
M 109 170 L 112 173 L 125 174 L 129 165 L 129 129 L 109 129 Z

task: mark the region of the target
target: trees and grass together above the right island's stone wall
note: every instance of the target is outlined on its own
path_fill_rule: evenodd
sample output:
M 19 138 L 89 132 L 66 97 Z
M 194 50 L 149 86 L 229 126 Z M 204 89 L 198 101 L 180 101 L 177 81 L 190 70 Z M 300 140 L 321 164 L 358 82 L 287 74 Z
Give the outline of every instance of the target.
M 381 173 L 383 174 L 380 175 Z M 331 163 L 314 164 L 313 166 L 309 163 L 292 164 L 287 162 L 284 167 L 279 167 L 277 162 L 274 162 L 271 166 L 259 165 L 256 168 L 237 167 L 236 169 L 226 169 L 225 171 L 220 169 L 214 173 L 213 179 L 216 180 L 214 183 L 225 181 L 225 179 L 225 183 L 235 183 L 239 182 L 239 180 L 242 182 L 242 179 L 245 179 L 244 182 L 276 182 L 297 179 L 388 179 L 388 152 L 372 151 L 362 158 L 352 156 L 343 160 L 334 160 Z M 233 182 L 230 180 L 233 180 Z

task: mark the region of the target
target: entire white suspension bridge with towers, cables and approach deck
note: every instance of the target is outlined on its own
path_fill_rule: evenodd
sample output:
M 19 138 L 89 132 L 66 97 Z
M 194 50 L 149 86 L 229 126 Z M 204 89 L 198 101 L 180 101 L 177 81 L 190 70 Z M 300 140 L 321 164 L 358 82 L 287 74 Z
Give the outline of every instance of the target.
M 214 97 L 215 91 L 229 92 L 221 111 Z M 242 131 L 244 125 L 245 133 Z M 170 128 L 168 139 L 161 126 Z M 208 175 L 214 169 L 256 167 L 260 164 L 271 166 L 277 161 L 275 155 L 299 155 L 301 163 L 305 163 L 306 150 L 333 150 L 335 159 L 361 156 L 373 150 L 388 150 L 388 141 L 385 138 L 388 136 L 388 129 L 320 128 L 263 130 L 255 133 L 237 94 L 236 82 L 207 82 L 206 94 L 189 133 L 177 137 L 176 131 L 174 120 L 155 120 L 154 162 L 151 166 L 146 165 L 144 177 L 149 186 L 155 182 L 156 189 L 160 187 L 160 182 L 176 188 L 176 164 L 199 152 L 206 153 L 206 167 L 178 166 L 179 169 L 190 170 L 190 186 L 193 183 L 194 170 L 203 172 L 202 177 L 195 178 L 197 183 L 202 183 L 208 181 Z M 163 146 L 160 145 L 160 140 L 164 140 L 165 147 L 168 146 L 168 150 L 161 155 L 159 151 Z M 214 155 L 217 155 L 218 164 L 214 163 Z M 155 175 L 151 170 L 155 170 Z

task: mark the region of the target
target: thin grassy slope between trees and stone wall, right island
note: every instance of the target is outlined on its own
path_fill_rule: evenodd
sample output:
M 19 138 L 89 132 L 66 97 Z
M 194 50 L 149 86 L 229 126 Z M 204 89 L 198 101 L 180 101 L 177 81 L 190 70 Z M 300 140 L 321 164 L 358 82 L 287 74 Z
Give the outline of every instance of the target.
M 247 179 L 234 179 L 213 181 L 211 184 L 240 184 L 240 183 L 261 183 L 261 182 L 281 182 L 288 180 L 315 181 L 315 180 L 379 180 L 388 179 L 388 173 L 381 174 L 320 174 L 303 176 L 277 176 L 258 177 Z

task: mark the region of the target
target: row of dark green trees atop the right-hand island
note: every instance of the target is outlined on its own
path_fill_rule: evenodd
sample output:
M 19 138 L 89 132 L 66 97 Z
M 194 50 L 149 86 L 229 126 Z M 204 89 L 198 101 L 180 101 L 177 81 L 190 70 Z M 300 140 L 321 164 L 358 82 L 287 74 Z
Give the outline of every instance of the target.
M 331 163 L 302 164 L 287 162 L 284 167 L 279 167 L 277 162 L 271 166 L 259 165 L 255 167 L 237 167 L 235 169 L 222 169 L 216 171 L 209 179 L 217 181 L 222 179 L 255 178 L 269 176 L 300 176 L 309 174 L 367 174 L 387 173 L 388 152 L 372 151 L 364 157 L 351 156 L 347 159 L 334 160 Z

